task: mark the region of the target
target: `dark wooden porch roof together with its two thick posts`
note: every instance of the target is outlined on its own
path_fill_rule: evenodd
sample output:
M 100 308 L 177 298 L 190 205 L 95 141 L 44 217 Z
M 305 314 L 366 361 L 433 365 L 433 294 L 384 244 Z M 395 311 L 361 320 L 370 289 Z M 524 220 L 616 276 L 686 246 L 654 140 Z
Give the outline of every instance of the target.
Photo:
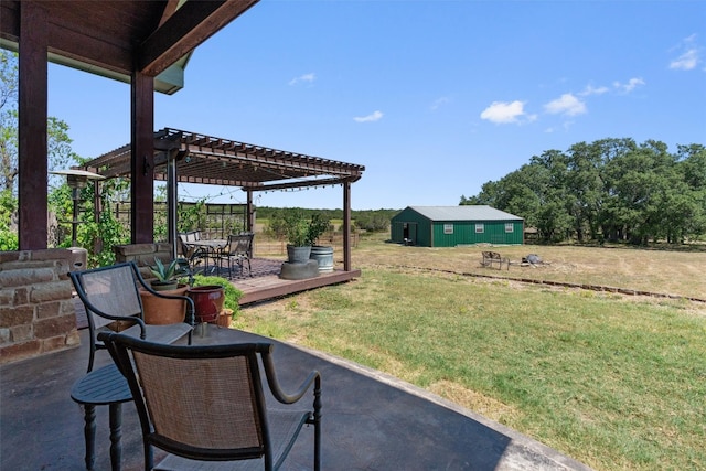
M 130 84 L 131 234 L 152 242 L 154 92 L 181 88 L 191 52 L 258 0 L 2 0 L 19 52 L 19 245 L 47 246 L 47 61 Z

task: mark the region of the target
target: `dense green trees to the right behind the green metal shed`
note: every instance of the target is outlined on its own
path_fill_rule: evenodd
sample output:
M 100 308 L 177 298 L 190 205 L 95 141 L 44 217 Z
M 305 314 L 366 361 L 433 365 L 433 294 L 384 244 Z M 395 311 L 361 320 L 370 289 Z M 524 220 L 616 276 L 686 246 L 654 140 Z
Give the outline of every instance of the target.
M 706 235 L 706 148 L 655 140 L 579 142 L 534 156 L 461 205 L 524 217 L 543 242 L 683 244 Z

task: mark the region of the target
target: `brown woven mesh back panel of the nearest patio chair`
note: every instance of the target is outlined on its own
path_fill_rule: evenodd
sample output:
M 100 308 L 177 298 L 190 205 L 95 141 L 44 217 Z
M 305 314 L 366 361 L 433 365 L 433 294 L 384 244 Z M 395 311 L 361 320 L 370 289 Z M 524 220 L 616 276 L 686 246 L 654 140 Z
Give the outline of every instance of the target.
M 203 449 L 263 449 L 248 356 L 174 358 L 138 351 L 133 355 L 157 433 Z

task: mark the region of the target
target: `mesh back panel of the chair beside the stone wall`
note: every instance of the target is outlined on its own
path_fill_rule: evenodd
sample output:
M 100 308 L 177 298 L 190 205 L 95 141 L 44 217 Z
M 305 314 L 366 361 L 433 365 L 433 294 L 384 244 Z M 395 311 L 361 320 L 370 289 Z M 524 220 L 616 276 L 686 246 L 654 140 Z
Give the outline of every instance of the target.
M 142 312 L 139 291 L 129 265 L 109 270 L 86 271 L 81 275 L 86 299 L 98 310 L 110 315 L 139 315 Z M 113 322 L 90 311 L 94 328 Z

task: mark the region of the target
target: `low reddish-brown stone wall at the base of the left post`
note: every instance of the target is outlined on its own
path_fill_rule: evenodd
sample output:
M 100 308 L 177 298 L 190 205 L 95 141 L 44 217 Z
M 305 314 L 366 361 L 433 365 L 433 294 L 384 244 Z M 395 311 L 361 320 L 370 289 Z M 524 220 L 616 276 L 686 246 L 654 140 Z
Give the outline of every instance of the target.
M 69 270 L 84 249 L 0 251 L 0 363 L 76 347 Z

